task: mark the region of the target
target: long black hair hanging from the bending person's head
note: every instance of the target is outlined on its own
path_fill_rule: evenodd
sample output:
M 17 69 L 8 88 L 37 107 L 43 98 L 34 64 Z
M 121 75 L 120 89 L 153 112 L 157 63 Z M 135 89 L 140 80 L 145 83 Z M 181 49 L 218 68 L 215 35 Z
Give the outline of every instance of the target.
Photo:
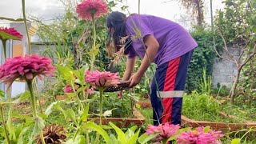
M 106 39 L 106 45 L 110 44 L 111 34 L 110 29 L 114 29 L 113 40 L 116 51 L 119 51 L 124 43 L 121 43 L 120 40 L 122 37 L 126 37 L 126 14 L 123 14 L 118 11 L 111 12 L 106 18 L 106 26 L 109 28 L 108 36 Z M 131 46 L 131 38 L 126 39 L 125 43 L 125 52 L 128 54 Z

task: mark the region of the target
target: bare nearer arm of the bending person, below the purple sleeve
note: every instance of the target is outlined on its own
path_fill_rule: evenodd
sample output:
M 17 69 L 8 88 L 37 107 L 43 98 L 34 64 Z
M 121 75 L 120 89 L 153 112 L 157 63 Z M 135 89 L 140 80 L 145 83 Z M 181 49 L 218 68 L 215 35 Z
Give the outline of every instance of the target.
M 146 35 L 143 41 L 147 47 L 146 54 L 138 71 L 130 78 L 130 87 L 136 86 L 141 81 L 143 74 L 150 66 L 150 63 L 154 61 L 154 57 L 158 53 L 159 43 L 153 35 Z

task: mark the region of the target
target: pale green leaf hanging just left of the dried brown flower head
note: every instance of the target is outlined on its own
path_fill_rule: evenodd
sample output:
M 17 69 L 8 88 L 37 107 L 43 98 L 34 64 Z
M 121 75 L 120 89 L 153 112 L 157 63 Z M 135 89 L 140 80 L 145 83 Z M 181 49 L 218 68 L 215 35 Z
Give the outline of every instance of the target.
M 30 142 L 32 143 L 34 141 L 34 138 L 39 134 L 39 132 L 45 127 L 44 121 L 42 120 L 42 118 L 37 117 L 34 118 L 34 130 L 30 136 Z

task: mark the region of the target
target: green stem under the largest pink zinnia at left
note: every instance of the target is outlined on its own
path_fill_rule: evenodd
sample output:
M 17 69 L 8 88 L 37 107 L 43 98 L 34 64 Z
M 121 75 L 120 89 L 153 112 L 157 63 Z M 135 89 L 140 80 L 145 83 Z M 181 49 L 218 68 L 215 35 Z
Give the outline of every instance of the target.
M 36 106 L 36 101 L 35 101 L 34 92 L 33 92 L 32 80 L 28 80 L 28 81 L 26 81 L 26 83 L 27 83 L 27 86 L 28 86 L 28 88 L 30 90 L 32 109 L 33 109 L 33 116 L 34 116 L 34 118 L 37 118 L 38 117 L 37 106 Z M 41 138 L 42 144 L 46 144 L 46 142 L 45 142 L 45 140 L 43 138 L 42 130 L 40 130 L 39 134 L 40 134 L 40 138 Z

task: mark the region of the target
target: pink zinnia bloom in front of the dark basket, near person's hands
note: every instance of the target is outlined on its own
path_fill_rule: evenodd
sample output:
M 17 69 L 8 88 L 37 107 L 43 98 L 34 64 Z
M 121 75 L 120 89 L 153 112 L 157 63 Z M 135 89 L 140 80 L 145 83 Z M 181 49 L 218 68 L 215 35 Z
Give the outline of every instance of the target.
M 118 86 L 120 78 L 117 73 L 110 73 L 106 71 L 100 72 L 98 70 L 93 72 L 86 71 L 86 82 L 97 88 L 106 88 L 110 86 Z

